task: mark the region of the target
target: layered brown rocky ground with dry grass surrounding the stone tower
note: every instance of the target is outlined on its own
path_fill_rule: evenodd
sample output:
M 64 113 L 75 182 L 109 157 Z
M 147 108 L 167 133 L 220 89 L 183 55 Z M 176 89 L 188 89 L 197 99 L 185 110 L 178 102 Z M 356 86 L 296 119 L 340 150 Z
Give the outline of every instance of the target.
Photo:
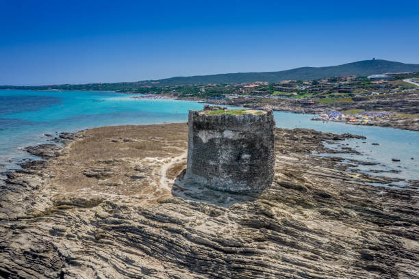
M 416 278 L 419 181 L 364 174 L 313 152 L 357 137 L 275 129 L 259 194 L 182 184 L 187 125 L 103 127 L 8 173 L 3 278 Z M 338 155 L 338 154 L 337 154 Z M 381 175 L 381 174 L 380 174 Z

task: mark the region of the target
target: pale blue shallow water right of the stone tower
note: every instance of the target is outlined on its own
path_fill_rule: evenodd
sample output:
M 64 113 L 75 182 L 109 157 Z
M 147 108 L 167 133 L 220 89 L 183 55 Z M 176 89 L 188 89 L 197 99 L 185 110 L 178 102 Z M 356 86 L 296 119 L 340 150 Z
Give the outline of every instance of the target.
M 292 114 L 288 112 L 274 112 L 277 127 L 307 128 L 331 133 L 352 133 L 364 135 L 366 139 L 346 139 L 336 141 L 337 144 L 325 144 L 329 148 L 339 149 L 350 147 L 361 152 L 354 154 L 324 154 L 325 156 L 338 156 L 359 161 L 379 163 L 379 165 L 358 165 L 362 172 L 369 170 L 398 170 L 398 173 L 374 174 L 403 179 L 419 179 L 419 132 L 376 126 L 359 126 L 342 122 L 322 122 L 310 120 L 313 115 Z M 379 145 L 372 145 L 377 143 Z M 338 146 L 341 144 L 341 146 Z M 346 145 L 348 144 L 348 145 Z M 399 162 L 392 161 L 400 159 Z M 413 159 L 411 159 L 413 158 Z

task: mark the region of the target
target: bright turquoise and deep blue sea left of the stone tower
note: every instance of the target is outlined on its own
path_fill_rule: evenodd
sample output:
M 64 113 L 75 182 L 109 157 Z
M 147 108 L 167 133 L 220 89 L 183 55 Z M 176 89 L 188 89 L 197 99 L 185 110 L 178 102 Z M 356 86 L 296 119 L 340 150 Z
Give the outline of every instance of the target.
M 202 103 L 138 99 L 115 92 L 0 90 L 0 164 L 27 157 L 25 146 L 45 143 L 55 132 L 121 124 L 186 122 Z M 135 95 L 134 95 L 135 96 Z

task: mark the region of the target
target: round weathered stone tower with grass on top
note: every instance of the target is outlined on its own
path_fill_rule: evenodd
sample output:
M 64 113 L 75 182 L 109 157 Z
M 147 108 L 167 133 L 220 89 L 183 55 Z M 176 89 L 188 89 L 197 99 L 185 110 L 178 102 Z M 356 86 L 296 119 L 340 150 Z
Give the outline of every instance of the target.
M 186 182 L 220 191 L 254 192 L 274 178 L 272 110 L 189 111 Z

